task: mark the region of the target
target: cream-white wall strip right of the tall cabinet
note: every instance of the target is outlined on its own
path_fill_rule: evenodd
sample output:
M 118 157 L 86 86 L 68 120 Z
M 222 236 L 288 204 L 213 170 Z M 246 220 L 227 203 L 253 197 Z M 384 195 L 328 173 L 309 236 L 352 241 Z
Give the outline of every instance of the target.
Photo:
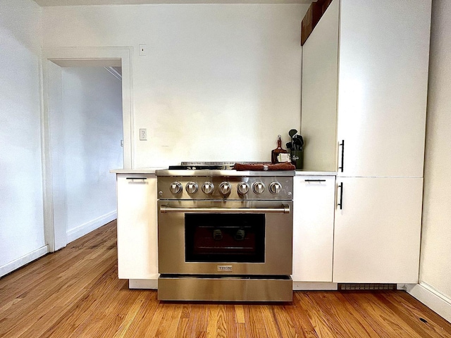
M 451 1 L 433 0 L 420 281 L 451 301 L 450 65 Z

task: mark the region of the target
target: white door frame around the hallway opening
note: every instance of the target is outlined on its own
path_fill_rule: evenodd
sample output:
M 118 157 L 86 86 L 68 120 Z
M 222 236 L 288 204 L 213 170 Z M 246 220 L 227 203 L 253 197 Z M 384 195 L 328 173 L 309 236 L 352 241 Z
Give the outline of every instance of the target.
M 61 67 L 121 66 L 124 168 L 134 167 L 132 46 L 60 47 L 43 51 L 42 58 L 42 167 L 44 189 L 44 238 L 49 252 L 67 244 L 66 225 L 54 223 L 54 177 L 52 175 L 51 111 L 61 109 Z M 111 168 L 114 169 L 114 168 Z

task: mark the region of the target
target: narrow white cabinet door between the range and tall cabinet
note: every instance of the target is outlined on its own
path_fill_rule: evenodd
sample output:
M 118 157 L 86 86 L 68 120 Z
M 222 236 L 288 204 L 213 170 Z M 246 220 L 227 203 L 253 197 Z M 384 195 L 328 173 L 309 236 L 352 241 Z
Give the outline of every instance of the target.
M 296 176 L 293 193 L 295 282 L 332 282 L 334 176 Z

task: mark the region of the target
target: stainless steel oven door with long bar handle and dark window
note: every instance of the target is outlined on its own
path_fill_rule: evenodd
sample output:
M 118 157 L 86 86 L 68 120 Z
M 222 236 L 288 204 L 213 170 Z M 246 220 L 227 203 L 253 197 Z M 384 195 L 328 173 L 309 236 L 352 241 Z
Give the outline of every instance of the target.
M 292 201 L 159 201 L 158 208 L 159 273 L 292 273 Z

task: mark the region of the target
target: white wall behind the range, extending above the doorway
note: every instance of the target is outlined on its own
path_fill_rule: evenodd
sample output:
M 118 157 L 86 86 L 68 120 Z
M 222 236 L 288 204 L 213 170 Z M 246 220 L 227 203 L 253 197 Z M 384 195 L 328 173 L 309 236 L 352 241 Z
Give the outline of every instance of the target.
M 44 48 L 133 46 L 135 168 L 268 161 L 299 128 L 300 23 L 309 5 L 44 8 Z M 147 44 L 147 56 L 138 45 Z M 147 128 L 147 141 L 138 140 Z

